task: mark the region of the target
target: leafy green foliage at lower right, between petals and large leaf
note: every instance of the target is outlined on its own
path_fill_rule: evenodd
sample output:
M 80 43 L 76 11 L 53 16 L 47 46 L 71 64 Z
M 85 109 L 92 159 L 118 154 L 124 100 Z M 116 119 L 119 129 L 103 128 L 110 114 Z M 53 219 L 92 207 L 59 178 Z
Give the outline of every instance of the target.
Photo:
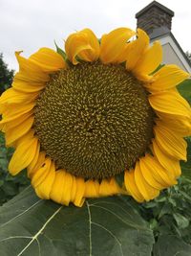
M 180 237 L 191 243 L 191 180 L 181 177 L 179 184 L 160 193 L 159 198 L 144 203 L 140 212 L 150 223 L 156 240 L 161 235 Z

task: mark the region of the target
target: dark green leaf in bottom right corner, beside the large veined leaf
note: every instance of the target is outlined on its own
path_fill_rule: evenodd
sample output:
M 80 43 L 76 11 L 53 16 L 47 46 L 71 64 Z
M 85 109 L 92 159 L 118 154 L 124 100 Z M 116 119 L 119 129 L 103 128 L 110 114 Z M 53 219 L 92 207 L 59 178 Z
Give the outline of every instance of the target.
M 154 245 L 154 256 L 190 256 L 191 245 L 176 236 L 163 235 Z

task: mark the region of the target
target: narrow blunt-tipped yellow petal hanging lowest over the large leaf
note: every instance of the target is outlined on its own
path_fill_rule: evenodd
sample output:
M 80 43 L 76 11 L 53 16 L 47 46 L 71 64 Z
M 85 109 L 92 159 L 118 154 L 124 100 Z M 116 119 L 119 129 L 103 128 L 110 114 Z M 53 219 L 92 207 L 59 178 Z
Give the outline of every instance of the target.
M 84 193 L 85 193 L 85 181 L 82 177 L 75 177 L 76 181 L 76 194 L 74 197 L 74 205 L 81 207 L 84 203 Z

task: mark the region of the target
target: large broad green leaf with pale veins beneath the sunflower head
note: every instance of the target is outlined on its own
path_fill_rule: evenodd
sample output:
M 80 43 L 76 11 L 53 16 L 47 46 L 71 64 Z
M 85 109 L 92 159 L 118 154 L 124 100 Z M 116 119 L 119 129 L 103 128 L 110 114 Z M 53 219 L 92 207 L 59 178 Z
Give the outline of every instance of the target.
M 153 244 L 147 223 L 123 197 L 66 207 L 29 187 L 0 208 L 1 256 L 149 256 Z

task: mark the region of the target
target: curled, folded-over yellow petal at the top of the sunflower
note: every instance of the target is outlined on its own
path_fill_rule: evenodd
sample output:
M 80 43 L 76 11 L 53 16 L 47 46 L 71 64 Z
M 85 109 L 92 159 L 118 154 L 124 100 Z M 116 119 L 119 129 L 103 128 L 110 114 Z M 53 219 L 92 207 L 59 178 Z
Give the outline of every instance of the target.
M 99 56 L 99 43 L 96 35 L 90 29 L 69 35 L 65 43 L 67 57 L 77 64 L 77 58 L 95 61 Z

